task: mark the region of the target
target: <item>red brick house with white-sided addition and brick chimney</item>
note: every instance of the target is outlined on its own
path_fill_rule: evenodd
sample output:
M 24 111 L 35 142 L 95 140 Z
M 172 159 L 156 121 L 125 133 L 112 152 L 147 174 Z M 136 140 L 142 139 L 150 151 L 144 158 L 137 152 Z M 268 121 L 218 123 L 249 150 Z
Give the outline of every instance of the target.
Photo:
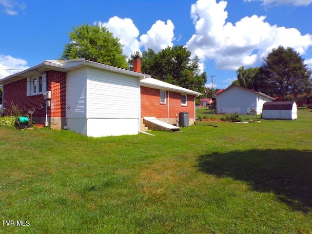
M 191 112 L 193 106 L 195 109 L 194 96 L 189 95 L 194 91 L 173 88 L 162 81 L 159 84 L 154 79 L 144 81 L 150 76 L 140 72 L 139 59 L 134 61 L 134 70 L 87 59 L 45 60 L 0 80 L 4 108 L 8 108 L 12 101 L 25 112 L 35 108 L 33 118 L 39 123 L 51 129 L 66 128 L 91 137 L 138 134 L 143 116 L 171 119 L 171 114 L 164 114 L 162 110 L 158 113 L 154 108 L 154 93 L 141 100 L 140 81 L 143 80 L 142 92 L 145 94 L 146 88 L 166 91 L 166 95 L 179 91 L 180 107 L 183 108 L 175 111 Z M 158 107 L 165 105 L 166 110 L 173 111 L 173 103 L 169 103 L 174 100 L 172 96 L 165 97 L 166 103 L 160 103 L 159 98 L 160 91 Z M 195 111 L 190 115 L 195 118 Z

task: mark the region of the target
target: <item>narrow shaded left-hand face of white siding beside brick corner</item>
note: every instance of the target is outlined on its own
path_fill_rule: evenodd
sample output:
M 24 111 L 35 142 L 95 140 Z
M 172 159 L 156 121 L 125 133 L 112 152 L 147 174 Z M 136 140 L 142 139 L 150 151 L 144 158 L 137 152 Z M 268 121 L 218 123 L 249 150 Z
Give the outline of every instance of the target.
M 67 73 L 66 117 L 86 117 L 87 68 Z

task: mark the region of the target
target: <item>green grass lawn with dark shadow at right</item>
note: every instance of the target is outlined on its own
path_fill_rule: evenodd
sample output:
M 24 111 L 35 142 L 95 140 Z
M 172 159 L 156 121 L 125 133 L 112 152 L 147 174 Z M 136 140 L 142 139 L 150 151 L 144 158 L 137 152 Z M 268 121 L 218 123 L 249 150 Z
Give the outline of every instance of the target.
M 15 220 L 0 233 L 312 233 L 312 112 L 207 123 L 155 137 L 0 128 L 0 217 Z

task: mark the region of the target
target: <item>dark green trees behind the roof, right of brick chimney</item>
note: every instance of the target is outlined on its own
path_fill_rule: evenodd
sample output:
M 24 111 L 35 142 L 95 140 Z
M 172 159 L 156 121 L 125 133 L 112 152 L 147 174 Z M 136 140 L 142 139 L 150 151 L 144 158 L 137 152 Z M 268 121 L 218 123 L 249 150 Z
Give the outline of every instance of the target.
M 137 55 L 138 52 L 131 55 L 130 66 Z M 199 74 L 198 58 L 191 59 L 190 56 L 191 52 L 181 45 L 167 47 L 157 54 L 148 49 L 140 56 L 141 71 L 153 78 L 204 93 L 207 75 L 205 72 Z

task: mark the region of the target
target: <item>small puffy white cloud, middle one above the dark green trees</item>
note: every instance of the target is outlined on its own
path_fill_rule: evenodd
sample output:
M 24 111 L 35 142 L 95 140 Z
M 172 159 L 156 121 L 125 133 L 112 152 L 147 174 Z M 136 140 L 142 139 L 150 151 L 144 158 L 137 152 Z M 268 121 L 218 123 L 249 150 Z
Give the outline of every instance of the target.
M 171 20 L 167 20 L 167 24 L 161 20 L 157 20 L 151 29 L 140 37 L 140 45 L 145 50 L 151 48 L 156 53 L 167 46 L 173 46 L 175 25 Z

